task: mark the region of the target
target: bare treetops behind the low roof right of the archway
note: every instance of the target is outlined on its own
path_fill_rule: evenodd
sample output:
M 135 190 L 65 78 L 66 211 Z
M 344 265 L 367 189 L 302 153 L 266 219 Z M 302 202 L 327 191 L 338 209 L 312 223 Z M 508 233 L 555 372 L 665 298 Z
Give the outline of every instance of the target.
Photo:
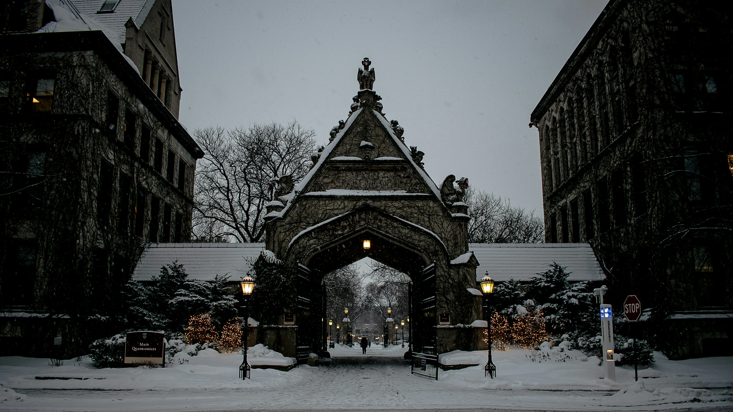
M 512 206 L 509 199 L 468 187 L 463 202 L 468 205 L 469 243 L 541 243 L 545 224 L 534 210 Z

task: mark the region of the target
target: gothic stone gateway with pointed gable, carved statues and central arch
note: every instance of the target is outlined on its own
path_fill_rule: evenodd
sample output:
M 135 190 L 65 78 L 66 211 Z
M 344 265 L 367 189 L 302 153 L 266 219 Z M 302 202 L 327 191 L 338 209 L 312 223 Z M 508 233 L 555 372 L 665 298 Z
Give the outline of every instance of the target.
M 478 265 L 468 251 L 462 202 L 468 180 L 450 175 L 435 185 L 423 169 L 424 153 L 408 148 L 402 127 L 382 113 L 381 98 L 371 89 L 374 69 L 364 60 L 347 120 L 314 153 L 306 177 L 297 184 L 281 177 L 267 205 L 266 247 L 298 279 L 296 301 L 283 308 L 283 314 L 295 313 L 297 342 L 291 347 L 297 353 L 285 356 L 303 361 L 306 350 L 326 350 L 323 273 L 371 257 L 413 280 L 414 349 L 435 356 L 437 364 L 439 353 L 471 350 L 454 328 L 437 325 L 437 314 L 451 325 L 481 318 L 481 298 L 466 290 L 476 287 Z M 370 240 L 369 249 L 364 240 Z M 432 273 L 427 283 L 426 273 Z M 427 316 L 426 304 L 432 305 Z

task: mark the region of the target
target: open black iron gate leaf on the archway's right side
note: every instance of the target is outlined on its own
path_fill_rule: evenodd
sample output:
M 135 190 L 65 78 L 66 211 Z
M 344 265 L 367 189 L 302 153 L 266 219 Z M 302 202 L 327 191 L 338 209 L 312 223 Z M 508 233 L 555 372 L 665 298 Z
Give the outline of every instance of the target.
M 410 312 L 415 332 L 410 336 L 412 364 L 410 372 L 422 378 L 438 380 L 438 353 L 435 328 L 435 262 L 422 269 L 420 279 L 410 290 Z M 414 336 L 414 339 L 412 338 Z

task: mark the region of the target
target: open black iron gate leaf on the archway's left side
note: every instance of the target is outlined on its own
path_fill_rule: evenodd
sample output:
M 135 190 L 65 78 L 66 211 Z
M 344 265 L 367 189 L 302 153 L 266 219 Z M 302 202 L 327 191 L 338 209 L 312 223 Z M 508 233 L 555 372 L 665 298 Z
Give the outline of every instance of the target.
M 311 270 L 298 262 L 298 268 L 295 274 L 295 282 L 297 283 L 295 293 L 295 306 L 297 309 L 295 321 L 298 325 L 298 330 L 295 332 L 296 336 L 296 349 L 295 358 L 298 359 L 298 364 L 305 364 L 308 362 L 308 355 L 312 351 L 312 317 L 313 317 L 313 291 L 312 291 L 312 280 Z

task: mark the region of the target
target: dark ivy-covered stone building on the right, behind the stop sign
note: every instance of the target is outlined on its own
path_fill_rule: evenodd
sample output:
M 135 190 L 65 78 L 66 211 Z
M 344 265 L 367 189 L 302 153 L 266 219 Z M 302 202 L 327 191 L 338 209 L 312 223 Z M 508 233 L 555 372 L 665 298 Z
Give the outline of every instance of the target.
M 592 243 L 671 358 L 733 337 L 730 33 L 712 2 L 611 0 L 531 114 L 545 238 Z

